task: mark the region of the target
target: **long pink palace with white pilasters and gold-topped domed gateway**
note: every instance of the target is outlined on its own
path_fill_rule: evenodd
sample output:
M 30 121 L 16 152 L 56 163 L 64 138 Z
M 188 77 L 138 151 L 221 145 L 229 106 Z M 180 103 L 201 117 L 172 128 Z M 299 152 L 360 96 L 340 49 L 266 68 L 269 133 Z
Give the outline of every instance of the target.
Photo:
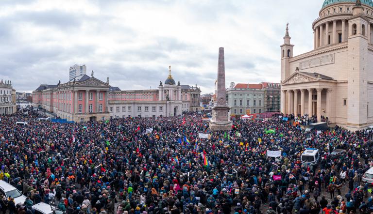
M 121 91 L 93 76 L 76 76 L 67 83 L 40 85 L 33 105 L 68 121 L 104 121 L 120 117 L 165 117 L 200 111 L 200 88 L 180 85 L 169 76 L 157 90 Z

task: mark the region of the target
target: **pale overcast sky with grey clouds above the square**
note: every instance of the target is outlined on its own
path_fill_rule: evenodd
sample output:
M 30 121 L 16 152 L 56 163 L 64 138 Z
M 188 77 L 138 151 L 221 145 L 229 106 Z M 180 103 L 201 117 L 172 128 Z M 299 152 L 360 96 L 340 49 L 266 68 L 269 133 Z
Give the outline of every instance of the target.
M 17 92 L 68 81 L 68 68 L 121 90 L 152 89 L 168 66 L 213 92 L 224 47 L 226 86 L 280 81 L 289 22 L 294 55 L 313 47 L 323 0 L 0 0 L 0 78 Z

